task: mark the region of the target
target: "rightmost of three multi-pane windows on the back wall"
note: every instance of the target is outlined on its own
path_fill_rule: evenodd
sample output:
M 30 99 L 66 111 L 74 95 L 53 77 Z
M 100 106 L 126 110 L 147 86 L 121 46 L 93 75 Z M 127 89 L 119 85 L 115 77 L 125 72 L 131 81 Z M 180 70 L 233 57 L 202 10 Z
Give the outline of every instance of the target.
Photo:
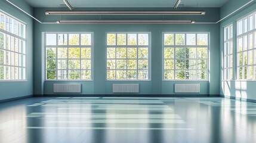
M 208 33 L 164 33 L 164 80 L 208 80 Z

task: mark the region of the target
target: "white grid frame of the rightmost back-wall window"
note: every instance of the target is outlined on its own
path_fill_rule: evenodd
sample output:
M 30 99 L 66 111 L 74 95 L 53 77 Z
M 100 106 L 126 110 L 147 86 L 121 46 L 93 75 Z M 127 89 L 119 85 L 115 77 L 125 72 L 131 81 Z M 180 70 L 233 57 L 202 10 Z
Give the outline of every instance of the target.
M 165 34 L 174 34 L 174 45 L 165 45 L 164 42 L 165 42 L 165 39 L 164 39 L 164 35 Z M 175 45 L 175 34 L 184 34 L 185 35 L 185 41 L 184 41 L 184 45 Z M 187 35 L 186 34 L 196 34 L 196 45 L 186 45 L 187 43 Z M 208 35 L 208 45 L 198 45 L 198 34 L 207 34 Z M 162 81 L 208 81 L 209 80 L 209 32 L 162 32 Z M 197 51 L 197 48 L 205 48 L 207 47 L 207 58 L 197 58 L 197 52 L 196 52 L 196 58 L 184 58 L 182 60 L 206 60 L 206 64 L 207 64 L 207 67 L 206 67 L 206 71 L 207 71 L 207 78 L 206 79 L 198 79 L 198 71 L 200 69 L 198 69 L 198 62 L 196 62 L 196 79 L 175 79 L 175 71 L 176 70 L 184 70 L 184 71 L 190 71 L 190 70 L 187 70 L 187 69 L 175 69 L 175 60 L 177 60 L 177 58 L 175 58 L 175 48 L 196 48 L 196 51 Z M 174 66 L 174 79 L 165 79 L 165 67 L 164 67 L 164 61 L 165 59 L 169 59 L 169 58 L 164 58 L 164 49 L 165 48 L 174 48 L 174 58 L 172 58 L 171 60 L 174 60 L 174 63 L 173 63 L 173 66 Z M 168 69 L 167 69 L 168 70 Z M 186 76 L 186 74 L 185 74 Z

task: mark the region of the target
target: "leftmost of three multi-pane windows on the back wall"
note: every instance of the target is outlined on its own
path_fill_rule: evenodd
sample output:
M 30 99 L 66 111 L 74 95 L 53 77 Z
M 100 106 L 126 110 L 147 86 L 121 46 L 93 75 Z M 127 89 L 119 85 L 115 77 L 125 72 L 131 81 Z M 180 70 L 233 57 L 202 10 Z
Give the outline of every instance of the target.
M 92 33 L 45 33 L 45 79 L 92 80 Z

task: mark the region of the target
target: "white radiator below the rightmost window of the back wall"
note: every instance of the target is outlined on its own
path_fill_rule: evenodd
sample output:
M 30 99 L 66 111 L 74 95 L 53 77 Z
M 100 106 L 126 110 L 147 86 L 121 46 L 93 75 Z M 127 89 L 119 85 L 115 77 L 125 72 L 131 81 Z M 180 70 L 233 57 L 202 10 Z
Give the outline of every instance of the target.
M 199 83 L 175 83 L 174 92 L 175 93 L 199 93 L 200 84 Z

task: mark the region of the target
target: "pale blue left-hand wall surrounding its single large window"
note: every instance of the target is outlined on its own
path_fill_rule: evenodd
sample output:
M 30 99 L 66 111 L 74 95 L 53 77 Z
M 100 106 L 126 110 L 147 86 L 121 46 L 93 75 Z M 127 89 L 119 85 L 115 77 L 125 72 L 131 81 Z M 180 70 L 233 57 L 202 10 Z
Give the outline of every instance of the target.
M 19 7 L 33 14 L 33 8 L 23 1 L 11 1 Z M 17 8 L 8 4 L 5 0 L 0 0 L 0 10 L 13 15 L 21 21 L 26 23 L 26 67 L 27 67 L 27 81 L 24 82 L 0 82 L 0 100 L 7 100 L 10 98 L 19 98 L 27 95 L 33 95 L 33 20 L 26 14 L 17 10 Z

